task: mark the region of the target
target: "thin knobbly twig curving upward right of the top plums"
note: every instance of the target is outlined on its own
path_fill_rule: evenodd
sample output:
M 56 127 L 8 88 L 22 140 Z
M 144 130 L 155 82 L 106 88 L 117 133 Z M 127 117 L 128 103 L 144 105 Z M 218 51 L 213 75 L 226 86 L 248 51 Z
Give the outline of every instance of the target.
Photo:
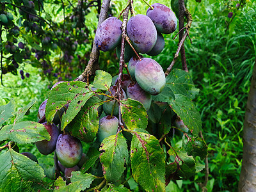
M 189 36 L 189 30 L 190 30 L 190 28 L 191 28 L 191 24 L 192 24 L 193 19 L 192 19 L 191 13 L 189 12 L 189 10 L 188 10 L 187 8 L 185 8 L 185 16 L 186 16 L 186 18 L 187 18 L 187 20 L 188 20 L 188 23 L 186 24 L 185 28 L 183 28 L 183 27 L 181 28 L 181 30 L 186 29 L 185 35 L 183 35 L 182 38 L 181 38 L 181 40 L 179 41 L 178 49 L 177 49 L 177 51 L 176 51 L 176 53 L 175 53 L 175 55 L 174 55 L 174 58 L 173 58 L 173 60 L 172 60 L 171 65 L 167 68 L 167 70 L 166 70 L 166 72 L 165 72 L 165 76 L 168 76 L 168 74 L 170 74 L 170 72 L 171 72 L 171 70 L 172 70 L 172 67 L 173 67 L 173 65 L 175 64 L 175 61 L 176 61 L 177 58 L 179 57 L 179 52 L 180 52 L 180 50 L 182 49 L 182 45 L 183 45 L 183 47 L 184 47 L 184 42 L 185 42 L 185 40 L 186 40 L 186 37 Z M 179 33 L 180 33 L 180 31 L 179 31 Z M 184 56 L 184 59 L 186 60 L 186 56 L 185 56 L 185 55 L 183 55 L 183 56 Z M 183 65 L 183 64 L 182 64 L 182 65 Z M 184 67 L 186 67 L 186 66 L 184 65 Z M 184 69 L 185 71 L 188 70 L 188 68 L 183 68 L 183 69 Z

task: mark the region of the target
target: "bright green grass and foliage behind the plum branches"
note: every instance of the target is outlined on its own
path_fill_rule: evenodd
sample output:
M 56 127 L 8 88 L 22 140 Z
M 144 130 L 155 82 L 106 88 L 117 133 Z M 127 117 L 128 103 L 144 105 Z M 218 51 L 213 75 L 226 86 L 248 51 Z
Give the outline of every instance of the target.
M 195 102 L 201 113 L 203 134 L 209 147 L 208 191 L 236 191 L 241 172 L 244 109 L 256 56 L 256 3 L 246 1 L 243 8 L 234 12 L 237 2 L 188 1 L 188 9 L 193 16 L 189 34 L 193 43 L 191 44 L 189 39 L 185 42 L 186 58 L 189 73 L 196 88 L 200 89 Z M 76 5 L 75 1 L 71 3 Z M 161 3 L 170 6 L 170 1 L 164 0 Z M 124 8 L 125 1 L 116 0 L 112 1 L 112 4 L 115 6 L 112 6 L 111 14 L 118 15 Z M 145 13 L 147 10 L 147 6 L 142 1 L 136 1 L 134 8 L 136 13 Z M 62 12 L 57 11 L 58 6 L 53 8 L 51 1 L 45 3 L 45 10 L 51 13 L 51 17 L 56 21 L 63 21 Z M 227 17 L 230 10 L 234 12 L 234 19 Z M 18 23 L 19 20 L 15 22 Z M 79 45 L 75 52 L 84 56 L 84 60 L 88 59 L 87 53 L 90 52 L 97 26 L 96 8 L 90 8 L 85 25 L 89 31 L 88 44 Z M 170 65 L 177 50 L 177 39 L 172 39 L 174 35 L 164 36 L 166 41 L 164 50 L 159 56 L 154 57 L 163 68 Z M 54 63 L 60 55 L 60 51 L 51 52 L 49 60 Z M 71 65 L 75 66 L 77 58 L 72 62 Z M 180 60 L 177 60 L 175 68 L 180 68 L 179 63 Z M 115 52 L 100 53 L 100 68 L 112 75 L 117 74 L 118 59 Z M 22 63 L 18 70 L 20 69 L 29 72 L 30 77 L 22 80 L 19 75 L 4 74 L 4 86 L 0 86 L 0 105 L 7 104 L 13 99 L 17 106 L 21 107 L 32 99 L 37 99 L 38 102 L 28 116 L 28 118 L 33 116 L 31 120 L 36 120 L 38 107 L 46 99 L 49 88 L 58 81 L 58 77 L 45 78 L 40 68 L 32 67 L 28 62 Z M 68 70 L 70 69 L 66 68 L 66 71 L 61 71 L 63 80 L 75 79 L 81 72 L 77 70 L 75 74 Z M 66 78 L 65 74 L 69 76 Z M 181 143 L 175 143 L 174 140 L 173 145 L 181 145 Z M 52 162 L 51 156 L 43 157 L 34 145 L 26 145 L 20 149 L 20 152 L 24 151 L 31 151 L 39 157 L 39 162 L 45 164 Z M 168 190 L 200 191 L 199 184 L 204 182 L 204 177 L 205 173 L 200 172 L 190 180 L 170 182 Z

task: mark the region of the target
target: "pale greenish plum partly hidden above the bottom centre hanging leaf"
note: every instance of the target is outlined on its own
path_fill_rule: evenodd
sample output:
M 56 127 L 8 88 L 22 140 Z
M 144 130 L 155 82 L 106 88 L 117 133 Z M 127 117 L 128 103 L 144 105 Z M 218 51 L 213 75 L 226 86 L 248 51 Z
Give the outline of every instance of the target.
M 100 141 L 100 143 L 104 140 L 104 138 L 116 134 L 117 129 L 118 118 L 116 118 L 115 116 L 108 115 L 100 118 L 99 130 L 97 133 L 97 138 Z

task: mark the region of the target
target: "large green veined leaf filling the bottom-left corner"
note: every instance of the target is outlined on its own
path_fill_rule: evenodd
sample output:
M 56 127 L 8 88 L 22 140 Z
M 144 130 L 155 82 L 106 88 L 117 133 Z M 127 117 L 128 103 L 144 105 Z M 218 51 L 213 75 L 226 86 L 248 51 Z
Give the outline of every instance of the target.
M 24 191 L 44 176 L 38 163 L 12 148 L 0 155 L 0 189 L 3 191 Z

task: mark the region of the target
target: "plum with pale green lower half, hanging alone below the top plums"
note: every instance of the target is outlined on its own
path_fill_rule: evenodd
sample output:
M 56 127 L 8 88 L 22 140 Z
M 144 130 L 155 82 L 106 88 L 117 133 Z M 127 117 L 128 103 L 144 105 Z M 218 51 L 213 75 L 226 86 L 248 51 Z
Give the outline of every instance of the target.
M 161 93 L 166 83 L 163 68 L 150 58 L 138 61 L 134 75 L 140 87 L 151 95 Z

